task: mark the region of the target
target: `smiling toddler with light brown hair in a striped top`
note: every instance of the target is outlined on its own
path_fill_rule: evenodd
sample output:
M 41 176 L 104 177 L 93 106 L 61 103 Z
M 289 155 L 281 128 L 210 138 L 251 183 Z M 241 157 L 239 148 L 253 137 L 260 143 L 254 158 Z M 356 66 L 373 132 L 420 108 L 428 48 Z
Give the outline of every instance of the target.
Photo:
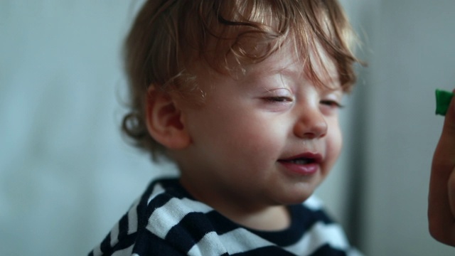
M 352 38 L 336 0 L 146 1 L 123 128 L 181 175 L 90 255 L 358 255 L 310 198 L 341 150 Z

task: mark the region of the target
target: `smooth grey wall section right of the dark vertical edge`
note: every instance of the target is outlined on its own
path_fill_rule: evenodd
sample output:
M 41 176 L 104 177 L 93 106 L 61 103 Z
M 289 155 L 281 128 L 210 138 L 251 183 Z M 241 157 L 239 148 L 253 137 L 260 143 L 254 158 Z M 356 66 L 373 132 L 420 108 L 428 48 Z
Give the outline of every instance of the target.
M 455 87 L 455 1 L 383 0 L 376 8 L 365 73 L 363 247 L 372 255 L 455 255 L 429 237 L 426 221 L 443 121 L 434 89 Z

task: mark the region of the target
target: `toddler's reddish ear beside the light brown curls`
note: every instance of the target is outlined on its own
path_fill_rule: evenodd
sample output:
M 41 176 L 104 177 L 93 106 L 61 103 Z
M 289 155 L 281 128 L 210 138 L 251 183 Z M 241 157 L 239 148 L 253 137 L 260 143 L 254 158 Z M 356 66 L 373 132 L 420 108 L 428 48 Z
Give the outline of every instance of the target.
M 175 99 L 153 87 L 146 97 L 146 125 L 151 137 L 167 149 L 183 149 L 191 142 Z

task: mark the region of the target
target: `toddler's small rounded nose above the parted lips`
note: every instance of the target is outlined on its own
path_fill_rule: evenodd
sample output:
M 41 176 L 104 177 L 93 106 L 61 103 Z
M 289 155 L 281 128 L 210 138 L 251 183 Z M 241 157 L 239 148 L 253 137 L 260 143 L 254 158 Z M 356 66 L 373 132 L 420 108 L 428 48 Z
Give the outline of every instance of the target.
M 327 134 L 327 122 L 319 108 L 302 110 L 294 127 L 294 134 L 302 139 L 316 139 Z

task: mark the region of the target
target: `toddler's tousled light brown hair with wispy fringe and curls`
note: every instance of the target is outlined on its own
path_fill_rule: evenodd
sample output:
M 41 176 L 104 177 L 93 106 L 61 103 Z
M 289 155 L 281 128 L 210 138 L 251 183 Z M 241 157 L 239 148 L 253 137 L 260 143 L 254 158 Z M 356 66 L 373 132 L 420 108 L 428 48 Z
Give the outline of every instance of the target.
M 309 58 L 316 45 L 325 50 L 336 63 L 343 90 L 351 90 L 358 62 L 355 36 L 336 0 L 146 1 L 125 41 L 130 111 L 122 122 L 124 133 L 154 160 L 167 156 L 146 129 L 149 87 L 198 93 L 192 65 L 229 73 L 264 60 L 287 40 L 301 58 Z M 307 75 L 320 82 L 311 61 L 305 63 Z

